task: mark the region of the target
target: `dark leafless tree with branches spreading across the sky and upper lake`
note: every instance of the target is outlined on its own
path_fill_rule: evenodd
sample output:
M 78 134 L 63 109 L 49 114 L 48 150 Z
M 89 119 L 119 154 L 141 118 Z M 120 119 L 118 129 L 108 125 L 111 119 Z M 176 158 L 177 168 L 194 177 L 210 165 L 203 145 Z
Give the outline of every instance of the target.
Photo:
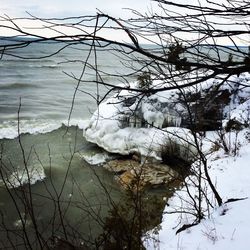
M 196 172 L 199 199 L 198 201 L 193 200 L 197 212 L 196 222 L 199 222 L 203 218 L 201 197 L 207 199 L 204 190 L 201 190 L 200 183 L 203 176 L 205 176 L 218 205 L 221 205 L 223 201 L 209 176 L 207 159 L 202 152 L 199 134 L 197 134 L 197 127 L 193 119 L 193 110 L 184 90 L 188 87 L 202 85 L 209 79 L 214 79 L 215 82 L 218 80 L 219 83 L 215 85 L 215 88 L 219 89 L 224 83 L 232 83 L 232 80 L 229 80 L 230 76 L 249 72 L 250 51 L 242 48 L 239 43 L 249 44 L 250 4 L 247 0 L 225 0 L 223 3 L 204 0 L 197 1 L 197 4 L 165 0 L 153 2 L 158 7 L 157 11 L 152 10 L 149 13 L 133 11 L 135 18 L 129 20 L 113 18 L 101 12 L 93 16 L 61 19 L 44 19 L 30 15 L 27 20 L 42 22 L 39 35 L 37 31 L 35 34 L 32 29 L 21 27 L 19 21 L 23 19 L 0 17 L 0 28 L 12 30 L 22 38 L 5 37 L 5 42 L 0 46 L 1 59 L 5 56 L 23 58 L 17 53 L 20 49 L 44 41 L 56 41 L 61 45 L 54 53 L 45 57 L 51 57 L 65 48 L 75 45 L 82 46 L 83 50 L 87 49 L 88 53 L 82 60 L 83 67 L 80 75 L 66 73 L 76 82 L 69 120 L 74 108 L 76 93 L 78 91 L 86 93 L 84 84 L 89 83 L 89 80 L 85 78 L 87 69 L 95 75 L 92 83 L 96 86 L 97 95 L 87 94 L 92 95 L 97 105 L 117 90 L 133 91 L 139 99 L 163 91 L 179 91 L 186 103 L 186 113 L 191 121 L 190 128 L 199 155 L 200 165 Z M 54 35 L 49 38 L 45 37 L 43 31 L 46 30 L 53 31 Z M 69 30 L 71 35 L 67 32 Z M 102 31 L 107 30 L 108 32 L 124 33 L 128 42 L 112 40 L 102 35 Z M 145 42 L 150 43 L 150 46 L 145 46 L 143 44 Z M 233 46 L 227 46 L 228 44 Z M 104 72 L 98 68 L 98 53 L 107 50 L 120 58 L 121 63 L 127 68 L 126 74 Z M 41 59 L 41 57 L 36 59 L 39 58 Z M 158 81 L 159 84 L 147 84 L 146 79 L 146 85 L 140 88 L 130 86 L 128 80 L 130 77 L 138 78 L 138 76 L 148 74 L 150 74 L 148 80 Z M 105 76 L 113 77 L 123 85 L 107 81 Z M 244 83 L 240 84 L 243 88 L 248 87 Z M 99 92 L 101 86 L 106 87 L 106 91 L 102 95 Z M 21 141 L 19 143 L 22 147 Z M 58 202 L 60 194 L 58 193 L 56 197 Z M 28 198 L 29 202 L 32 202 L 31 197 Z M 207 202 L 210 203 L 208 199 Z M 62 215 L 62 213 L 59 214 Z M 32 216 L 34 217 L 31 213 Z M 62 217 L 61 222 L 64 225 Z M 35 220 L 33 223 L 35 227 Z M 67 239 L 66 236 L 65 233 Z M 23 237 L 27 238 L 26 235 Z M 40 236 L 38 238 L 40 239 Z M 40 240 L 40 244 L 42 244 L 42 238 Z

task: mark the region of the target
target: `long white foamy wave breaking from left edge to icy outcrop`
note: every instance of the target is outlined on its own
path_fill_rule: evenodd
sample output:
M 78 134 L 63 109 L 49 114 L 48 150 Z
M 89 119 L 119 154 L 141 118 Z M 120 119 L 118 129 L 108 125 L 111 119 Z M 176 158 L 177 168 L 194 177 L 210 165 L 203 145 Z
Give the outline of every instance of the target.
M 62 126 L 78 126 L 79 129 L 84 129 L 87 125 L 86 120 L 72 119 L 67 120 L 20 120 L 20 134 L 45 134 L 61 128 Z M 4 121 L 0 123 L 0 139 L 14 139 L 18 137 L 18 121 Z

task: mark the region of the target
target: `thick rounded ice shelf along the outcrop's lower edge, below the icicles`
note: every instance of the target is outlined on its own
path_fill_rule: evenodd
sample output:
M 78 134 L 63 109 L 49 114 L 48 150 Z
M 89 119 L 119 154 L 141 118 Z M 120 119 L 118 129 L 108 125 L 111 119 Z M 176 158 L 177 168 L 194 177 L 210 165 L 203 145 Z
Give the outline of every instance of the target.
M 108 125 L 109 126 L 109 125 Z M 103 131 L 104 129 L 104 131 Z M 106 130 L 104 126 L 98 125 L 85 130 L 84 136 L 89 142 L 96 143 L 111 153 L 129 155 L 139 153 L 141 156 L 153 157 L 161 160 L 161 151 L 167 142 L 172 138 L 176 140 L 176 135 L 185 134 L 186 139 L 178 140 L 178 144 L 183 144 L 184 148 L 192 150 L 191 134 L 183 128 L 167 128 L 159 131 L 155 128 L 123 128 L 115 129 L 112 125 Z

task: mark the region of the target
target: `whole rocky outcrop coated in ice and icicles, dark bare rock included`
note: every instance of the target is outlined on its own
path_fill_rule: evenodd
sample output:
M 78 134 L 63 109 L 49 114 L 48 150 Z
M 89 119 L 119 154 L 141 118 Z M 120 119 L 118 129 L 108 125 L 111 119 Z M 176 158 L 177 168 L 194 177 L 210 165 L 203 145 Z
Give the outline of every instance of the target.
M 139 153 L 157 160 L 162 160 L 164 147 L 175 142 L 180 158 L 189 162 L 195 156 L 194 139 L 180 126 L 193 131 L 217 130 L 222 127 L 222 116 L 246 123 L 250 104 L 244 98 L 250 90 L 239 86 L 248 81 L 247 74 L 227 81 L 222 77 L 182 92 L 176 89 L 151 95 L 135 91 L 138 84 L 132 83 L 99 105 L 83 134 L 108 152 Z

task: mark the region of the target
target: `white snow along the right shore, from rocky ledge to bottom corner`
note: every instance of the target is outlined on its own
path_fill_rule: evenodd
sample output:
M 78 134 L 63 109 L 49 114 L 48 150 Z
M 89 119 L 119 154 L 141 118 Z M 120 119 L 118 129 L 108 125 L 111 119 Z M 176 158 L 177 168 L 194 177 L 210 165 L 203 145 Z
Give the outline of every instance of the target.
M 207 82 L 213 83 L 213 80 Z M 230 95 L 230 103 L 224 108 L 224 126 L 229 120 L 235 120 L 249 127 L 250 121 L 250 75 L 242 74 L 239 77 L 232 76 L 222 89 L 227 89 Z M 243 85 L 241 85 L 243 84 Z M 161 230 L 158 235 L 158 248 L 165 249 L 201 249 L 201 250 L 248 250 L 250 246 L 249 222 L 250 222 L 250 129 L 232 131 L 225 134 L 225 142 L 228 147 L 236 147 L 234 156 L 225 154 L 221 148 L 218 151 L 210 150 L 207 156 L 209 174 L 223 201 L 228 199 L 242 199 L 236 202 L 225 203 L 221 207 L 215 207 L 206 219 L 197 226 L 191 227 L 176 235 L 176 231 L 184 224 L 194 221 L 194 216 L 185 213 L 192 206 L 192 200 L 183 187 L 168 201 L 165 207 Z M 203 152 L 208 153 L 214 146 L 213 142 L 219 141 L 215 132 L 207 133 L 203 141 Z M 195 197 L 197 189 L 193 184 L 197 182 L 192 176 L 186 179 L 189 192 Z M 206 183 L 202 181 L 202 186 Z M 213 195 L 208 192 L 211 200 Z M 205 208 L 206 204 L 202 206 Z M 183 211 L 183 213 L 173 213 Z M 189 210 L 189 212 L 192 212 Z M 147 245 L 147 249 L 155 249 L 153 242 Z

